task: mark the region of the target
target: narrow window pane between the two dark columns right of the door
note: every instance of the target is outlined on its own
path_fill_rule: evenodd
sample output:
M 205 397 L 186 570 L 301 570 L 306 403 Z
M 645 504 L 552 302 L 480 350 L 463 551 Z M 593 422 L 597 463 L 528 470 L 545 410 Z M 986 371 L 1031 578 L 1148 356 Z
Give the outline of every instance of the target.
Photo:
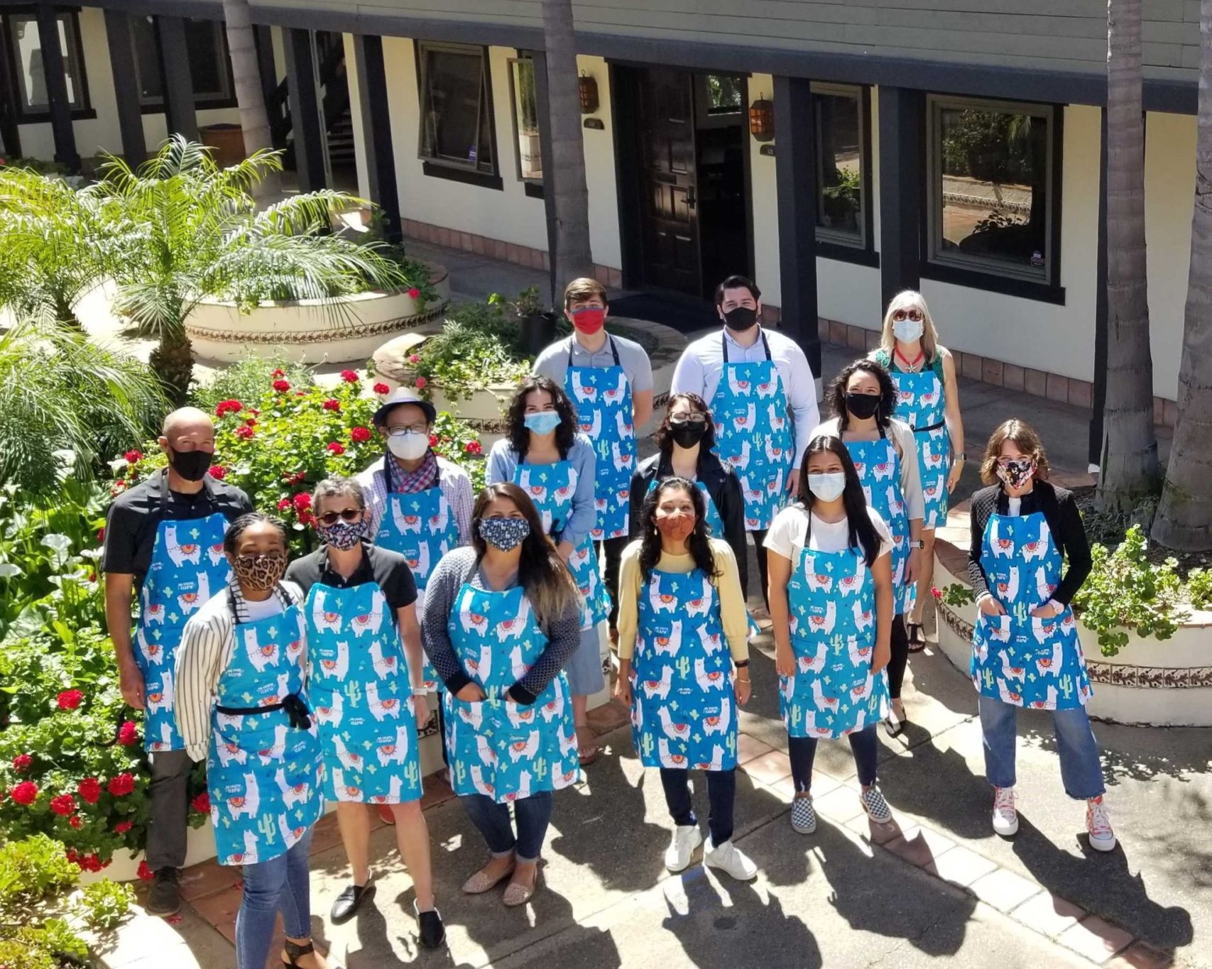
M 863 138 L 858 98 L 813 94 L 817 116 L 817 225 L 863 236 Z

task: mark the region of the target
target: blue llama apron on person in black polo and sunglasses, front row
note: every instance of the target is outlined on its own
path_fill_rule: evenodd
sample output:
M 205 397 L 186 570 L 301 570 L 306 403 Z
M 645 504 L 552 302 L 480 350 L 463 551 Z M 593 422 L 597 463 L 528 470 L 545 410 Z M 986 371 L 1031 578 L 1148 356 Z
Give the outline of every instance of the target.
M 404 804 L 421 797 L 408 664 L 377 583 L 308 592 L 308 686 L 328 801 Z

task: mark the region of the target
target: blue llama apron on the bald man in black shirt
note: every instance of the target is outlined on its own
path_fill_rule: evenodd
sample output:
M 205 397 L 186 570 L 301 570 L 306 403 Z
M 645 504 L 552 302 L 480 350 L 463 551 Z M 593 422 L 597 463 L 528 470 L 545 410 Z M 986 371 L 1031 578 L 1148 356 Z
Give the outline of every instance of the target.
M 231 574 L 223 555 L 227 527 L 227 518 L 216 511 L 205 518 L 165 517 L 156 528 L 135 630 L 135 660 L 144 684 L 143 744 L 153 753 L 185 746 L 173 716 L 177 647 L 189 617 L 227 590 Z

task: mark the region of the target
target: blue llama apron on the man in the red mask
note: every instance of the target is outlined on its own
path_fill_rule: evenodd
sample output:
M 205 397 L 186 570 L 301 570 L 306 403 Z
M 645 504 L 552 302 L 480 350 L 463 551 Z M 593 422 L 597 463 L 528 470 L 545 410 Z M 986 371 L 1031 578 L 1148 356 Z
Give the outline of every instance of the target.
M 564 389 L 577 407 L 578 428 L 598 454 L 594 482 L 598 523 L 589 533 L 594 541 L 628 533 L 631 472 L 638 453 L 635 428 L 631 426 L 635 415 L 631 384 L 619 365 L 614 338 L 606 337 L 606 340 L 614 356 L 613 367 L 573 367 L 570 346 L 564 378 Z

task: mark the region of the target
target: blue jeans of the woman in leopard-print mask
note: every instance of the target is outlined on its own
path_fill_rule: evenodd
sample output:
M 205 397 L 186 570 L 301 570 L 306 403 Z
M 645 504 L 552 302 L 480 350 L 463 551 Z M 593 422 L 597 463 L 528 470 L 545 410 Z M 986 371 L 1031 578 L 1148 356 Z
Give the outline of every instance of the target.
M 310 849 L 308 830 L 286 854 L 244 866 L 244 899 L 235 916 L 238 969 L 264 969 L 279 911 L 288 938 L 311 938 Z

